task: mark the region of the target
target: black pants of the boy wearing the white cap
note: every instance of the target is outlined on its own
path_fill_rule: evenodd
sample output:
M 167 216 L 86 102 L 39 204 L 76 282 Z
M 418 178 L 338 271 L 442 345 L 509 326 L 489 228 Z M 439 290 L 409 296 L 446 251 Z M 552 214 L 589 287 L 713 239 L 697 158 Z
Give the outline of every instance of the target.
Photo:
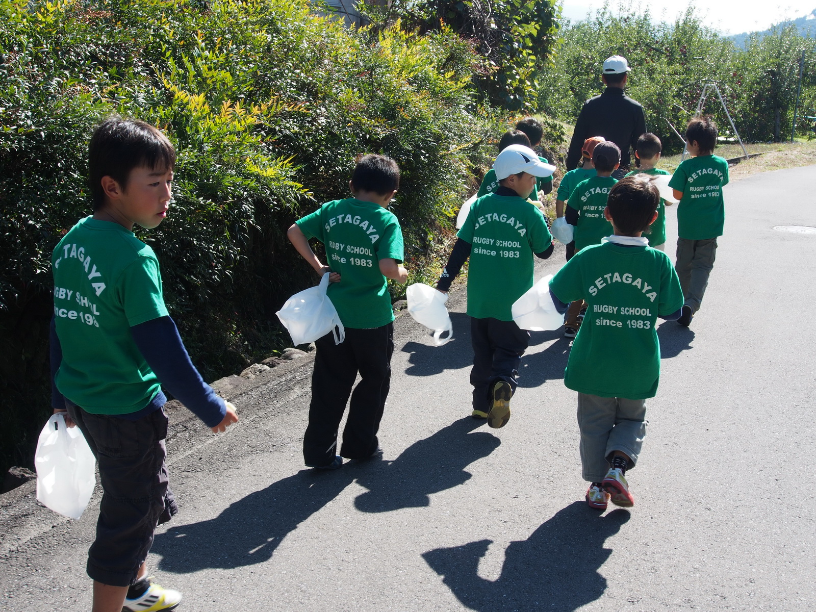
M 487 411 L 490 388 L 497 380 L 505 380 L 516 392 L 516 377 L 521 356 L 530 344 L 530 332 L 521 330 L 512 321 L 471 317 L 470 336 L 473 345 L 473 410 Z

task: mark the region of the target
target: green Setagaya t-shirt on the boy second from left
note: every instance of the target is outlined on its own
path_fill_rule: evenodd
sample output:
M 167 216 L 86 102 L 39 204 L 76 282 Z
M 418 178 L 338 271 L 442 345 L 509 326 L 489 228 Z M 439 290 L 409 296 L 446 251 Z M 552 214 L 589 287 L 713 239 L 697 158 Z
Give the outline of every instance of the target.
M 307 238 L 326 245 L 328 265 L 340 274 L 340 282 L 329 283 L 327 295 L 343 325 L 368 329 L 392 322 L 388 280 L 379 260 L 402 261 L 397 217 L 379 204 L 348 197 L 326 202 L 297 224 Z

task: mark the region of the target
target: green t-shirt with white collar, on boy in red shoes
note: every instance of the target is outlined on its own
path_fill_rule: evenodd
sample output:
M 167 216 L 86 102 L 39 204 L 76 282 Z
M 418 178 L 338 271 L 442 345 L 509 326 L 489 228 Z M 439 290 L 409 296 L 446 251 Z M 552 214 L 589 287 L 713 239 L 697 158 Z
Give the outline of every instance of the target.
M 650 246 L 611 242 L 577 253 L 550 282 L 562 302 L 585 299 L 564 384 L 575 391 L 631 400 L 654 397 L 660 376 L 658 315 L 683 306 L 668 256 Z

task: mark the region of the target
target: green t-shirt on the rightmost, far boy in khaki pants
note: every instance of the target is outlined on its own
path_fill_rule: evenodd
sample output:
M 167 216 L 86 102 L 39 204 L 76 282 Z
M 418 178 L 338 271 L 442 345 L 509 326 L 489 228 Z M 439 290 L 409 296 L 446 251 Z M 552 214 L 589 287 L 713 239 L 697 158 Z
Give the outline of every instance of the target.
M 717 155 L 691 157 L 677 166 L 668 186 L 683 192 L 677 205 L 677 235 L 686 240 L 722 236 L 725 205 L 722 188 L 728 184 L 728 162 Z

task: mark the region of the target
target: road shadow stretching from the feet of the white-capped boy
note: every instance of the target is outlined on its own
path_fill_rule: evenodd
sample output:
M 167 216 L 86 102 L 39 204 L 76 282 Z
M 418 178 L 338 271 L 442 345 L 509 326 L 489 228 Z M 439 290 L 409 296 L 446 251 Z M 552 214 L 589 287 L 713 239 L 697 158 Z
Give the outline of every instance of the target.
M 357 484 L 366 493 L 354 505 L 361 512 L 389 512 L 400 508 L 424 508 L 432 493 L 452 489 L 472 476 L 465 472 L 470 463 L 496 449 L 499 438 L 488 432 L 472 432 L 484 420 L 466 417 L 442 428 L 431 437 L 409 446 L 393 461 L 366 465 L 357 475 Z

